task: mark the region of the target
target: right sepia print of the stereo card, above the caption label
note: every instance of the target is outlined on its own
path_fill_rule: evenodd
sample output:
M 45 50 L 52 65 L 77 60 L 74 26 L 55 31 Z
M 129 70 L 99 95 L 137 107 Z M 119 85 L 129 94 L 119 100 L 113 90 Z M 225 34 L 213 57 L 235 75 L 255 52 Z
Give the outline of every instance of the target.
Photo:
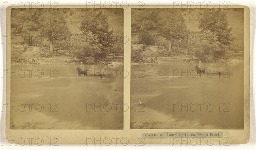
M 244 129 L 244 8 L 131 9 L 131 129 Z

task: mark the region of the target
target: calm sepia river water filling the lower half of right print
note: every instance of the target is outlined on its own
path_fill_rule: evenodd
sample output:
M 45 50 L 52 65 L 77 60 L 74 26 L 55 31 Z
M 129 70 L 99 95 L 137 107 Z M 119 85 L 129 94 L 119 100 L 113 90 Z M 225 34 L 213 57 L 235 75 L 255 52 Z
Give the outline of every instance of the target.
M 143 103 L 144 112 L 131 106 L 131 128 L 243 129 L 243 64 L 204 63 L 214 74 L 202 77 L 194 68 L 132 65 L 131 104 Z

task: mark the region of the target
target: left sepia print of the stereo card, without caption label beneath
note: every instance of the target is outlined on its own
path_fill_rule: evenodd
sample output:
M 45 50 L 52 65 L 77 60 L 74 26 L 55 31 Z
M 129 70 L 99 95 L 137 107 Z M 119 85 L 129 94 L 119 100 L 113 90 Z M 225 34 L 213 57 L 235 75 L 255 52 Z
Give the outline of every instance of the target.
M 119 8 L 12 8 L 10 129 L 123 129 L 123 18 Z

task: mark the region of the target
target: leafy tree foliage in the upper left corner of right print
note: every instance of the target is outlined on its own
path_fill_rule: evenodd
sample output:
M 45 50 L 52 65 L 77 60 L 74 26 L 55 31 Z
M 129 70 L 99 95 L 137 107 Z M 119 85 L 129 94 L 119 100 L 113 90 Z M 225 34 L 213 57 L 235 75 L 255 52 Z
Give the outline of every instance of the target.
M 145 8 L 132 11 L 131 33 L 136 34 L 136 43 L 162 45 L 164 37 L 168 41 L 177 40 L 188 34 L 182 10 L 171 8 Z M 161 40 L 161 41 L 160 41 Z

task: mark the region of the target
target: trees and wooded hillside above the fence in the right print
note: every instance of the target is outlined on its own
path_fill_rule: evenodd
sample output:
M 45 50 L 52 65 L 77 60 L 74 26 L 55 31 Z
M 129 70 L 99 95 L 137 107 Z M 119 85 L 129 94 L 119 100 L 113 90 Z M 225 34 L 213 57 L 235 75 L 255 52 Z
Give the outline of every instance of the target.
M 243 16 L 243 9 L 134 9 L 131 15 L 132 44 L 171 44 L 189 49 L 195 57 L 214 61 L 226 51 L 243 50 Z M 240 26 L 236 23 L 238 19 Z M 239 31 L 233 30 L 232 26 Z M 162 52 L 158 55 L 171 54 Z

